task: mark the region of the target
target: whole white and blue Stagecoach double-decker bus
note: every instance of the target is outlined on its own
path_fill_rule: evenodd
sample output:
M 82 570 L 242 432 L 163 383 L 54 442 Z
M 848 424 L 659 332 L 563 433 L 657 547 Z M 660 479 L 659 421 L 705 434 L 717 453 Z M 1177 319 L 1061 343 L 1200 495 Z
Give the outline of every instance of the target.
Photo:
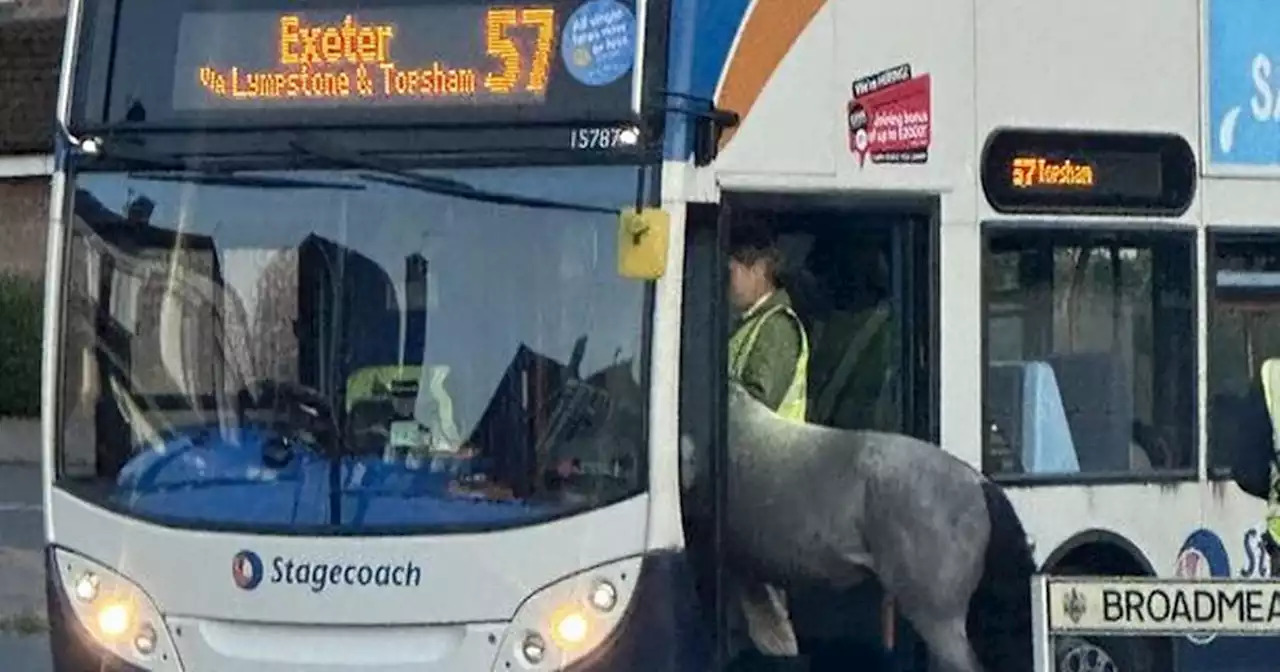
M 1266 575 L 1229 435 L 1280 356 L 1277 12 L 73 0 L 58 669 L 731 664 L 721 545 L 687 522 L 723 502 L 685 497 L 680 452 L 732 449 L 726 242 L 762 224 L 809 422 L 982 470 L 1044 573 Z M 810 669 L 925 668 L 874 585 L 788 596 Z

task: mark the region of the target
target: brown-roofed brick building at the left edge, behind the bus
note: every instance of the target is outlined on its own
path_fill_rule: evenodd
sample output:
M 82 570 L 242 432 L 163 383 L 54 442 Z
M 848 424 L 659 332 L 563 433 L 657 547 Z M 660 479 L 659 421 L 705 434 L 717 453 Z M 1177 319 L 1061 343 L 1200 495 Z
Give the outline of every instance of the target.
M 44 275 L 64 12 L 0 0 L 0 274 Z

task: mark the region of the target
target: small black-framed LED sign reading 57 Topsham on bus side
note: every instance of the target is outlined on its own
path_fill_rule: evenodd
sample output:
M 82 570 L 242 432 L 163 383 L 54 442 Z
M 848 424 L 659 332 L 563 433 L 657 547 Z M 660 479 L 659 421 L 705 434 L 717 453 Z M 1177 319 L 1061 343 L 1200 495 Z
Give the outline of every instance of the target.
M 998 212 L 1176 215 L 1190 205 L 1196 159 L 1178 136 L 1000 131 L 982 186 Z

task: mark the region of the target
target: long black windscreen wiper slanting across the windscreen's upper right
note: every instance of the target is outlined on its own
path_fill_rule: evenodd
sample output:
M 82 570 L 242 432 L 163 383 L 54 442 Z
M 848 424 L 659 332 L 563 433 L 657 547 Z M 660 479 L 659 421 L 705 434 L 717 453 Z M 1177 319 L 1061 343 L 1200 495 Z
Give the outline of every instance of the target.
M 562 201 L 552 201 L 548 198 L 538 198 L 532 196 L 517 196 L 513 193 L 502 193 L 493 191 L 484 191 L 467 184 L 466 182 L 419 175 L 410 170 L 403 170 L 396 168 L 394 165 L 388 165 L 371 156 L 365 156 L 360 152 L 340 147 L 328 141 L 319 141 L 316 138 L 298 137 L 289 142 L 289 146 L 301 154 L 315 156 L 317 159 L 324 159 L 339 165 L 347 165 L 351 168 L 361 168 L 374 173 L 381 173 L 387 177 L 379 175 L 361 175 L 370 182 L 379 182 L 383 184 L 390 184 L 393 187 L 404 187 L 407 189 L 417 189 L 428 193 L 439 193 L 443 196 L 456 196 L 458 198 L 467 198 L 471 201 L 480 201 L 485 204 L 497 205 L 513 205 L 518 207 L 538 207 L 544 210 L 571 210 L 576 212 L 596 212 L 605 215 L 617 215 L 617 210 L 611 207 L 599 207 L 593 205 L 582 204 L 568 204 Z

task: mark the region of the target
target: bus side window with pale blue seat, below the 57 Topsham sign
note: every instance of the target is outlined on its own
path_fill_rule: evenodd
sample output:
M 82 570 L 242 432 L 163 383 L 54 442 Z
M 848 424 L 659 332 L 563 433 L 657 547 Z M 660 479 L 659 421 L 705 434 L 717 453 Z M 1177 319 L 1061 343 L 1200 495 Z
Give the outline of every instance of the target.
M 983 470 L 1196 465 L 1194 234 L 987 228 Z

